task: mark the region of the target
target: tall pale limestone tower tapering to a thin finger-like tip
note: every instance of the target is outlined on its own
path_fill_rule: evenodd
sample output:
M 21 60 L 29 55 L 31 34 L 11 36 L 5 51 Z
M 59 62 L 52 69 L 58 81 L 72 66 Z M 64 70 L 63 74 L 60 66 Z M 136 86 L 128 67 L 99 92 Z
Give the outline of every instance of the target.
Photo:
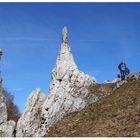
M 37 136 L 43 136 L 48 128 L 64 115 L 79 111 L 86 106 L 87 86 L 95 83 L 95 78 L 78 70 L 68 47 L 68 30 L 62 30 L 61 50 L 52 71 L 49 96 L 42 109 L 42 127 Z M 95 97 L 95 100 L 97 98 Z

